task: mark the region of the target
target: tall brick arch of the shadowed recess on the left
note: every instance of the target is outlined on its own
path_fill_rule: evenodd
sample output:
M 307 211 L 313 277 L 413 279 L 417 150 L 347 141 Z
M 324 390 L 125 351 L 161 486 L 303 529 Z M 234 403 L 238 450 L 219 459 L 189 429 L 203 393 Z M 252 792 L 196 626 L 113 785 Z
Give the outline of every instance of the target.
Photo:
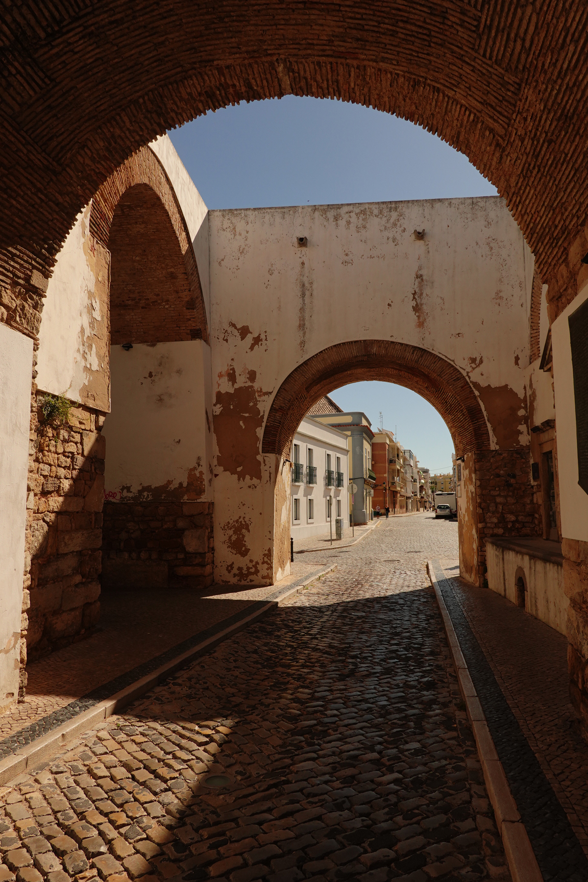
M 113 343 L 208 342 L 190 232 L 165 169 L 149 147 L 116 168 L 95 194 L 90 232 L 112 255 Z

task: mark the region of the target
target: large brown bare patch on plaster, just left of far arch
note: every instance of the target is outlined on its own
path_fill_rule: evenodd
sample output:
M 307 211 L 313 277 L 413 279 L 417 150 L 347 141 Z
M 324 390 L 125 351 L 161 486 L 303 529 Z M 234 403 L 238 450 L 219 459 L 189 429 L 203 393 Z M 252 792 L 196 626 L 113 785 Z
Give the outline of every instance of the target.
M 239 481 L 261 481 L 259 431 L 264 421 L 255 386 L 237 386 L 233 392 L 217 392 L 214 401 L 214 434 L 218 465 Z

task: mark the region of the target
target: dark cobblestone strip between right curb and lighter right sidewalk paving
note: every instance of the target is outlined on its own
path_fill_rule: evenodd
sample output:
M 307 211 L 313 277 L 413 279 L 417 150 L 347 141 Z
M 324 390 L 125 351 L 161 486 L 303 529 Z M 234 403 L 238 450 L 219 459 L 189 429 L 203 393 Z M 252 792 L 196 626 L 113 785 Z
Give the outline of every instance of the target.
M 435 576 L 543 878 L 546 882 L 552 879 L 585 882 L 588 860 L 569 818 L 496 683 L 488 660 L 453 594 L 450 580 L 443 578 L 438 566 L 435 566 Z

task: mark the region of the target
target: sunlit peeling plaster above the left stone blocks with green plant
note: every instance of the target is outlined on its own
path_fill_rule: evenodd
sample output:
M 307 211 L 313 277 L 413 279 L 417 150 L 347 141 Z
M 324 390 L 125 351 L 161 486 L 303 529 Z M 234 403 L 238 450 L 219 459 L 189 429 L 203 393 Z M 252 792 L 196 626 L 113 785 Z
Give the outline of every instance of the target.
M 108 413 L 110 255 L 90 234 L 89 214 L 78 214 L 48 282 L 37 387 Z

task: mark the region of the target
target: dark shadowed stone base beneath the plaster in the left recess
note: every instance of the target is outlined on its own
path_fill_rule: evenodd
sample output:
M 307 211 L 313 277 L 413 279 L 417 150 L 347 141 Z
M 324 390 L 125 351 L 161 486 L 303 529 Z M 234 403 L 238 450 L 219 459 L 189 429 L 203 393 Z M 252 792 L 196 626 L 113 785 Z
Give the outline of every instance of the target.
M 212 502 L 104 506 L 104 587 L 212 585 Z

